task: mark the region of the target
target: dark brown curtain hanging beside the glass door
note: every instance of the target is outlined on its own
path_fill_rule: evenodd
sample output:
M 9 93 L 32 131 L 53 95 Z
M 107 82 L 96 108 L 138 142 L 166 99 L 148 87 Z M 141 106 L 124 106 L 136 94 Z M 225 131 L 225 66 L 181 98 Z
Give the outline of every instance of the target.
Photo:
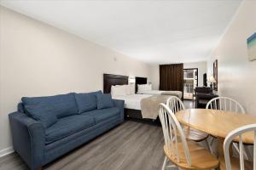
M 160 65 L 160 90 L 183 92 L 183 64 Z

